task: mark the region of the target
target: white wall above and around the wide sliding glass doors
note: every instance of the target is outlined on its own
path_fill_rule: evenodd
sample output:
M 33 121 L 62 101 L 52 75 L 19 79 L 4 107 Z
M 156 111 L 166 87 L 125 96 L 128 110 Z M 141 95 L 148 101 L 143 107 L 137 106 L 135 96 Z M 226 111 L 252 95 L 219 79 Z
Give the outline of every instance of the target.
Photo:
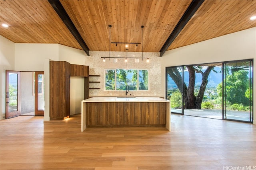
M 256 58 L 256 27 L 166 51 L 161 60 L 161 92 L 165 96 L 165 68 Z M 254 68 L 256 68 L 254 64 Z M 254 69 L 254 75 L 256 71 Z M 256 84 L 256 78 L 254 78 Z M 256 99 L 256 90 L 254 90 Z M 256 106 L 256 100 L 254 100 Z M 254 112 L 256 117 L 256 112 Z M 254 124 L 256 120 L 254 119 Z

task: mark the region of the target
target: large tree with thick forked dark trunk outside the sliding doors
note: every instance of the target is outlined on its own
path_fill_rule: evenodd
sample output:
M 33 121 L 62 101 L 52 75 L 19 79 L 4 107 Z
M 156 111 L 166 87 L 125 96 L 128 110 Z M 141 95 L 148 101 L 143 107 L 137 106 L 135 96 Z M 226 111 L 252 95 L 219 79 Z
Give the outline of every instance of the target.
M 201 109 L 202 100 L 204 97 L 204 91 L 206 89 L 206 85 L 208 83 L 208 76 L 210 72 L 213 70 L 214 66 L 186 66 L 188 73 L 189 73 L 189 84 L 183 82 L 182 76 L 177 67 L 169 68 L 168 75 L 174 80 L 180 93 L 184 96 L 184 104 L 185 109 Z M 203 72 L 204 68 L 204 72 Z M 200 86 L 200 90 L 198 95 L 195 96 L 195 81 L 196 81 L 196 73 L 202 74 L 202 82 Z M 184 87 L 184 92 L 183 92 Z

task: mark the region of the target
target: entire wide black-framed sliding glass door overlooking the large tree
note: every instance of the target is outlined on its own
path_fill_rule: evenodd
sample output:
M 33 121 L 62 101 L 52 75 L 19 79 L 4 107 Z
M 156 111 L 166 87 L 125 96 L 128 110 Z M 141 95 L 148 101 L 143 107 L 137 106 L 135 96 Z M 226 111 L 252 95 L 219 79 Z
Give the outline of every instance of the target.
M 253 60 L 166 68 L 171 113 L 252 122 Z

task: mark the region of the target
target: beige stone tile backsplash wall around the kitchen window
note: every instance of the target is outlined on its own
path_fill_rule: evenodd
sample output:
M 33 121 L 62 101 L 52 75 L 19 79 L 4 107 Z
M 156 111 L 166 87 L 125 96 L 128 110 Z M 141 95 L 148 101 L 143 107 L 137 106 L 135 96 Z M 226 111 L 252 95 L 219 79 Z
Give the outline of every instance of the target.
M 89 66 L 90 75 L 100 75 L 100 77 L 89 77 L 90 81 L 97 81 L 100 83 L 89 83 L 90 89 L 89 96 L 120 96 L 125 95 L 124 91 L 109 91 L 105 90 L 104 86 L 104 71 L 105 69 L 147 69 L 149 73 L 149 90 L 142 91 L 130 91 L 128 95 L 134 96 L 160 96 L 161 94 L 161 63 L 160 53 L 143 52 L 143 61 L 140 59 L 139 63 L 135 63 L 135 59 L 129 59 L 129 57 L 142 57 L 141 52 L 128 52 L 126 63 L 125 59 L 118 59 L 117 63 L 114 63 L 114 59 L 109 59 L 109 51 L 90 51 L 90 56 L 85 56 L 85 65 Z M 103 58 L 106 57 L 106 62 L 103 62 Z M 110 57 L 126 57 L 126 52 L 111 51 Z M 147 57 L 151 58 L 150 62 L 147 62 Z

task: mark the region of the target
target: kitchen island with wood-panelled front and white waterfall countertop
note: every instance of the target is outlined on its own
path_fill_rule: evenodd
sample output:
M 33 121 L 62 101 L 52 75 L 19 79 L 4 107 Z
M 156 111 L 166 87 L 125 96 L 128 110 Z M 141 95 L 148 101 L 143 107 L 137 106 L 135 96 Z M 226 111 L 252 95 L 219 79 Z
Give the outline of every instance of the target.
M 82 100 L 81 131 L 86 127 L 166 127 L 170 101 L 159 97 L 92 97 Z

